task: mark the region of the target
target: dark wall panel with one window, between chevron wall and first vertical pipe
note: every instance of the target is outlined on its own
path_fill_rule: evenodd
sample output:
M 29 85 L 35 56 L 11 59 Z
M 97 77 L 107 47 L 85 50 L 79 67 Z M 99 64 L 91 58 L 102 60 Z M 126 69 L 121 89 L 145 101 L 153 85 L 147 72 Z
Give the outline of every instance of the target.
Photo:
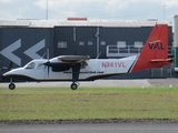
M 55 27 L 53 32 L 55 55 L 73 55 L 76 51 L 73 27 Z M 60 42 L 66 42 L 67 48 L 59 48 L 58 44 Z

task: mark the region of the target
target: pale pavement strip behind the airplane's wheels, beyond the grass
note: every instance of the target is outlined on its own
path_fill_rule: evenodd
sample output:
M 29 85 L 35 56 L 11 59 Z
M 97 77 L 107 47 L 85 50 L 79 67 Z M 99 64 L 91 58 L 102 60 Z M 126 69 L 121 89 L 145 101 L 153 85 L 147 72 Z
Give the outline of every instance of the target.
M 18 82 L 16 86 L 69 86 L 71 82 Z M 7 86 L 9 83 L 0 83 Z M 79 82 L 80 86 L 178 86 L 178 79 L 142 79 L 142 80 L 96 80 L 93 82 Z

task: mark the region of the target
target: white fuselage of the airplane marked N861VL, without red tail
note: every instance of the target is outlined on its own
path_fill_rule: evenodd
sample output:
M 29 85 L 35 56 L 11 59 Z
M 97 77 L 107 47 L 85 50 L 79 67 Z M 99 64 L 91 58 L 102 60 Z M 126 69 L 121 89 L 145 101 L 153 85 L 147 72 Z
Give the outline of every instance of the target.
M 90 59 L 87 65 L 81 65 L 79 81 L 96 80 L 99 78 L 129 73 L 137 60 L 138 55 L 132 55 L 122 59 Z M 71 81 L 72 70 L 55 72 L 51 68 L 43 65 L 48 60 L 32 60 L 23 68 L 11 70 L 3 75 L 20 79 L 24 81 Z M 50 62 L 56 62 L 57 59 L 51 59 Z M 59 61 L 58 61 L 59 62 Z

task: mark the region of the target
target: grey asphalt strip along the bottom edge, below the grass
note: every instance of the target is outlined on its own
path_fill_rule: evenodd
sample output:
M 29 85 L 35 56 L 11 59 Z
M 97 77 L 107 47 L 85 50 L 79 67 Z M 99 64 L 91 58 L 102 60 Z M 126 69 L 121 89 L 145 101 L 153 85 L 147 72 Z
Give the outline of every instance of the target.
M 0 133 L 178 133 L 175 123 L 0 125 Z

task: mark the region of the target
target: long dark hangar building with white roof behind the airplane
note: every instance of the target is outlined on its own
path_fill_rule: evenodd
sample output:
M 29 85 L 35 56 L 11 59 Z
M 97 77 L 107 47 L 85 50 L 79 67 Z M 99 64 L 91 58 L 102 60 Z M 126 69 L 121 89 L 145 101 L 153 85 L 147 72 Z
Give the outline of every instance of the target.
M 109 59 L 138 54 L 156 23 L 168 24 L 168 54 L 172 55 L 172 27 L 167 21 L 0 20 L 0 68 L 8 68 L 10 62 L 18 68 L 32 59 L 46 58 L 47 49 L 50 58 L 76 54 Z M 165 76 L 172 76 L 171 65 L 115 78 Z

